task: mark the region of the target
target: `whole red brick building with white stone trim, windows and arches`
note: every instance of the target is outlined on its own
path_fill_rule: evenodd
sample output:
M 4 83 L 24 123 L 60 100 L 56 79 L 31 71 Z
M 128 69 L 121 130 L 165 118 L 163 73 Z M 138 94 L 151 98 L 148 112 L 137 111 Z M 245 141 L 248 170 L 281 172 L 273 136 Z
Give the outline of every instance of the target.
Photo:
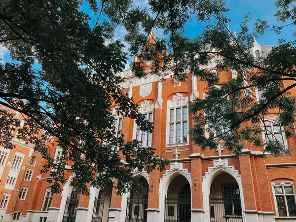
M 255 44 L 254 56 L 268 49 L 269 46 Z M 213 68 L 214 63 L 213 59 L 205 69 Z M 74 194 L 67 183 L 62 193 L 52 195 L 46 182 L 49 174 L 38 173 L 41 156 L 14 139 L 15 149 L 0 148 L 0 222 L 296 221 L 296 150 L 292 156 L 277 158 L 251 143 L 246 143 L 239 157 L 222 146 L 217 150 L 201 150 L 188 138 L 187 130 L 194 124 L 188 102 L 203 98 L 206 83 L 191 74 L 187 82 L 176 83 L 169 75 L 160 82 L 158 76 L 149 74 L 150 61 L 144 65 L 147 78 L 136 78 L 129 66 L 117 75 L 126 78 L 123 90 L 154 122 L 154 131 L 142 132 L 134 120 L 122 116 L 116 116 L 115 124 L 125 138 L 138 139 L 169 160 L 165 172 L 148 174 L 134 170 L 135 177 L 151 192 L 117 196 L 114 189 L 92 187 L 91 195 L 84 196 Z M 226 81 L 235 77 L 235 71 L 220 76 Z M 293 83 L 285 82 L 286 87 L 290 84 Z M 295 88 L 290 91 L 296 96 Z M 257 92 L 254 99 L 259 96 Z M 267 127 L 274 136 L 284 138 L 271 121 L 275 117 L 276 113 L 267 118 L 270 120 Z M 214 132 L 205 132 L 206 136 L 210 133 Z M 296 149 L 295 135 L 284 138 L 284 143 Z M 55 146 L 51 154 L 58 159 L 61 152 Z M 71 179 L 69 169 L 71 166 L 65 170 Z

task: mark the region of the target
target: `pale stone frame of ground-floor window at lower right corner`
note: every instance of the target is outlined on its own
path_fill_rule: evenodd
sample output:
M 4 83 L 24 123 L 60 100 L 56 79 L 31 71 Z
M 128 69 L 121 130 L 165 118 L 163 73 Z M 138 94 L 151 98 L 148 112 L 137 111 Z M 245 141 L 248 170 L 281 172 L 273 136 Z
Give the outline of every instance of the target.
M 294 182 L 293 181 L 271 182 L 271 186 L 272 186 L 272 193 L 273 193 L 273 197 L 274 197 L 273 199 L 274 199 L 274 206 L 275 206 L 276 216 L 278 216 L 278 217 L 284 217 L 284 218 L 289 218 L 290 215 L 289 215 L 289 209 L 288 209 L 288 205 L 287 205 L 287 197 L 286 196 L 294 196 L 295 202 L 296 202 L 296 192 L 295 192 Z M 279 187 L 279 186 L 282 187 L 283 194 L 276 194 L 275 193 L 275 187 Z M 285 188 L 284 188 L 285 186 L 292 186 L 293 194 L 286 194 L 285 193 Z M 278 196 L 279 195 L 284 196 L 287 216 L 279 216 L 278 205 L 277 205 L 277 201 L 276 201 L 276 196 L 277 195 Z M 291 216 L 291 217 L 295 217 L 295 216 Z

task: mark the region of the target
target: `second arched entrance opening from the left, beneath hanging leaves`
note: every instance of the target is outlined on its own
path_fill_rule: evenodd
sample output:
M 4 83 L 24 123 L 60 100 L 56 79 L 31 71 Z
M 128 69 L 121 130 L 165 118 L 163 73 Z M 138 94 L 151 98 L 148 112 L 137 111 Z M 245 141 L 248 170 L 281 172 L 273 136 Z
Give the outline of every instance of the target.
M 92 215 L 92 222 L 108 222 L 108 214 L 111 203 L 111 189 L 101 189 L 94 204 L 94 211 Z

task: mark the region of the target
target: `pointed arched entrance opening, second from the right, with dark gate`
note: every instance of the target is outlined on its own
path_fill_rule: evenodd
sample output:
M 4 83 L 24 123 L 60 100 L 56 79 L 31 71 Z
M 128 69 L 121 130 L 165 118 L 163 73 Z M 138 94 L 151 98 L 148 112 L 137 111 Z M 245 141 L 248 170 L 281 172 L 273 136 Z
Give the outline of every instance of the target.
M 165 197 L 165 222 L 190 222 L 191 190 L 183 175 L 175 177 Z

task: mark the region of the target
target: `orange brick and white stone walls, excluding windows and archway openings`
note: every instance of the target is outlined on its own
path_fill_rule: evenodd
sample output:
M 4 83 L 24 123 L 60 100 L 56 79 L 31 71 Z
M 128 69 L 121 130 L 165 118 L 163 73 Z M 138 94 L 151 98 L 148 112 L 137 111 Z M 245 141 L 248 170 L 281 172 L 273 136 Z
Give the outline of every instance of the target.
M 146 66 L 145 69 L 148 71 L 149 66 Z M 273 186 L 275 182 L 289 182 L 292 184 L 295 194 L 295 151 L 292 156 L 275 158 L 264 154 L 263 148 L 254 147 L 251 143 L 246 142 L 246 149 L 243 150 L 243 155 L 236 157 L 228 153 L 227 150 L 223 150 L 221 155 L 214 149 L 203 151 L 190 140 L 184 143 L 170 144 L 168 141 L 169 101 L 173 100 L 178 93 L 182 95 L 182 98 L 187 98 L 188 101 L 190 101 L 190 98 L 194 98 L 194 96 L 203 98 L 203 94 L 207 90 L 206 83 L 194 78 L 191 74 L 188 74 L 187 81 L 182 83 L 174 83 L 170 76 L 162 83 L 158 82 L 157 76 L 148 75 L 146 79 L 136 79 L 130 70 L 125 70 L 119 75 L 126 77 L 127 81 L 122 85 L 123 91 L 128 93 L 132 89 L 131 96 L 136 104 L 141 106 L 144 101 L 153 104 L 154 131 L 151 137 L 151 145 L 153 148 L 156 148 L 157 155 L 170 161 L 165 172 L 154 171 L 148 175 L 145 172 L 135 171 L 135 175 L 137 174 L 139 180 L 141 176 L 148 180 L 151 191 L 148 194 L 148 203 L 145 205 L 148 222 L 164 222 L 167 217 L 164 200 L 168 189 L 171 187 L 182 189 L 181 185 L 183 182 L 190 185 L 191 222 L 209 222 L 211 218 L 213 220 L 211 214 L 212 211 L 215 211 L 215 208 L 213 210 L 209 207 L 209 195 L 212 192 L 221 193 L 222 186 L 228 187 L 230 185 L 239 188 L 242 221 L 292 222 L 296 220 L 296 215 L 280 217 Z M 222 81 L 232 78 L 230 70 L 221 73 L 220 76 Z M 285 85 L 292 83 L 287 81 Z M 292 95 L 296 95 L 296 88 L 290 91 Z M 3 109 L 3 107 L 0 107 L 0 109 Z M 187 124 L 189 128 L 194 124 L 190 114 L 188 115 Z M 133 120 L 123 117 L 122 134 L 125 135 L 127 140 L 135 139 Z M 62 222 L 66 199 L 71 194 L 72 187 L 68 184 L 64 185 L 61 194 L 54 194 L 52 196 L 49 210 L 42 211 L 44 195 L 46 189 L 50 187 L 50 184 L 45 181 L 49 177 L 49 173 L 39 174 L 38 171 L 42 164 L 42 158 L 39 153 L 34 152 L 30 145 L 27 146 L 19 141 L 14 141 L 13 143 L 16 145 L 16 148 L 9 151 L 0 176 L 0 200 L 2 200 L 3 194 L 10 195 L 5 209 L 0 209 L 0 222 L 16 221 L 13 220 L 15 212 L 21 212 L 19 218 L 21 222 L 42 222 L 44 218 L 46 218 L 47 222 Z M 293 149 L 296 149 L 295 135 L 287 140 L 287 143 Z M 178 148 L 177 152 L 180 153 L 178 159 L 174 155 L 176 148 Z M 18 170 L 15 185 L 9 187 L 5 183 L 9 173 L 11 174 L 10 167 L 16 152 L 23 153 L 24 157 Z M 51 150 L 52 156 L 55 153 L 56 144 L 54 144 Z M 31 166 L 29 162 L 33 156 L 36 157 L 36 163 L 34 166 Z M 31 181 L 24 180 L 27 169 L 34 171 Z M 68 178 L 70 178 L 71 172 L 67 170 L 66 172 Z M 227 174 L 227 177 L 221 174 Z M 228 177 L 229 179 L 227 179 Z M 213 185 L 213 181 L 215 185 Z M 174 187 L 174 185 L 176 186 Z M 180 185 L 180 187 L 177 187 L 177 185 Z M 22 187 L 28 188 L 25 200 L 18 199 Z M 80 195 L 76 210 L 76 222 L 92 221 L 95 196 L 98 193 L 99 189 L 91 188 L 90 196 Z M 111 201 L 109 201 L 110 206 L 107 206 L 107 208 L 104 206 L 104 209 L 109 209 L 109 213 L 103 213 L 102 222 L 124 222 L 127 217 L 128 196 L 129 194 L 117 196 L 116 190 L 113 189 L 111 191 Z M 234 219 L 228 219 L 228 221 L 234 222 Z

